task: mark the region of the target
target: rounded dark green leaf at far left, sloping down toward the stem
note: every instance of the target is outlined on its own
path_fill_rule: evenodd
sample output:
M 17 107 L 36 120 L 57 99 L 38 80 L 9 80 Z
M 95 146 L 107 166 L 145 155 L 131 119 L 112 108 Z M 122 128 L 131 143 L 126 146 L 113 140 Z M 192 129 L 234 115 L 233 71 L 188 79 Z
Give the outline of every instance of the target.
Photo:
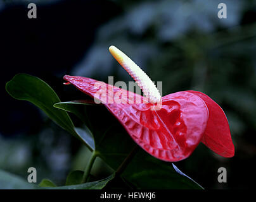
M 67 112 L 56 109 L 53 105 L 60 102 L 54 90 L 41 79 L 29 74 L 16 74 L 11 81 L 6 83 L 6 91 L 18 100 L 27 100 L 43 110 L 61 128 L 84 140 Z M 83 136 L 84 134 L 82 134 Z M 84 142 L 84 141 L 83 141 Z M 86 143 L 86 142 L 84 142 Z M 86 143 L 87 144 L 87 143 Z

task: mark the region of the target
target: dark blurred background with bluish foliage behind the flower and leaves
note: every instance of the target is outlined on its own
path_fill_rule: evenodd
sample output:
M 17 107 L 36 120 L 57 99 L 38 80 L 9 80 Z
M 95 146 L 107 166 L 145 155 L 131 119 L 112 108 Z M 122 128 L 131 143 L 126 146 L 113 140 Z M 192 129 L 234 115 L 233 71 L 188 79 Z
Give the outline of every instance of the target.
M 29 19 L 27 5 L 37 5 Z M 227 18 L 219 19 L 219 3 Z M 61 101 L 84 97 L 63 86 L 63 75 L 131 81 L 108 52 L 116 45 L 163 95 L 181 90 L 207 93 L 226 112 L 236 153 L 222 158 L 200 144 L 176 165 L 207 189 L 252 188 L 256 155 L 256 1 L 1 1 L 0 169 L 38 181 L 63 184 L 70 170 L 84 169 L 87 150 L 37 107 L 10 97 L 5 84 L 16 73 L 46 81 Z M 98 160 L 93 172 L 105 166 Z M 226 167 L 227 183 L 217 181 Z

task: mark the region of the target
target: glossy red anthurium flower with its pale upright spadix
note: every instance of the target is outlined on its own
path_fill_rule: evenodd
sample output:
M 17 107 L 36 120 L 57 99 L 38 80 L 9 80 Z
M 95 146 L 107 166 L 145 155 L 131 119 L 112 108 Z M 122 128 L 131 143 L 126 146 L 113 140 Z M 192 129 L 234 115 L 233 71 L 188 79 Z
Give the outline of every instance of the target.
M 146 97 L 82 76 L 65 75 L 64 80 L 100 100 L 153 157 L 177 162 L 189 157 L 200 142 L 222 157 L 233 157 L 229 124 L 214 100 L 191 90 L 161 97 L 150 78 L 128 56 L 114 46 L 110 52 Z

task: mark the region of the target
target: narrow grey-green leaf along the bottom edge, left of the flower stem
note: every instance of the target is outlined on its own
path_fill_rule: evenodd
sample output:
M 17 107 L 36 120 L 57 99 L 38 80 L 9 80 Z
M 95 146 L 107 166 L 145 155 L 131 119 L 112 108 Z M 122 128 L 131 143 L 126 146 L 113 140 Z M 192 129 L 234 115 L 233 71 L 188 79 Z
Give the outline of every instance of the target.
M 69 185 L 69 186 L 46 187 L 46 189 L 102 189 L 114 177 L 115 177 L 115 173 L 99 181 L 87 182 L 84 184 L 76 184 L 76 185 Z

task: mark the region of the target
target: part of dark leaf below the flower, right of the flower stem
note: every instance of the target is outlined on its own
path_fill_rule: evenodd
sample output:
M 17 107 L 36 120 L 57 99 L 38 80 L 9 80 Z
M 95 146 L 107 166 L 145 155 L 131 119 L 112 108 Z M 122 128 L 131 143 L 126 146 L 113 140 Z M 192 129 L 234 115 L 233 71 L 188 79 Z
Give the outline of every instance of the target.
M 138 189 L 202 189 L 171 162 L 163 162 L 140 150 L 122 177 Z

